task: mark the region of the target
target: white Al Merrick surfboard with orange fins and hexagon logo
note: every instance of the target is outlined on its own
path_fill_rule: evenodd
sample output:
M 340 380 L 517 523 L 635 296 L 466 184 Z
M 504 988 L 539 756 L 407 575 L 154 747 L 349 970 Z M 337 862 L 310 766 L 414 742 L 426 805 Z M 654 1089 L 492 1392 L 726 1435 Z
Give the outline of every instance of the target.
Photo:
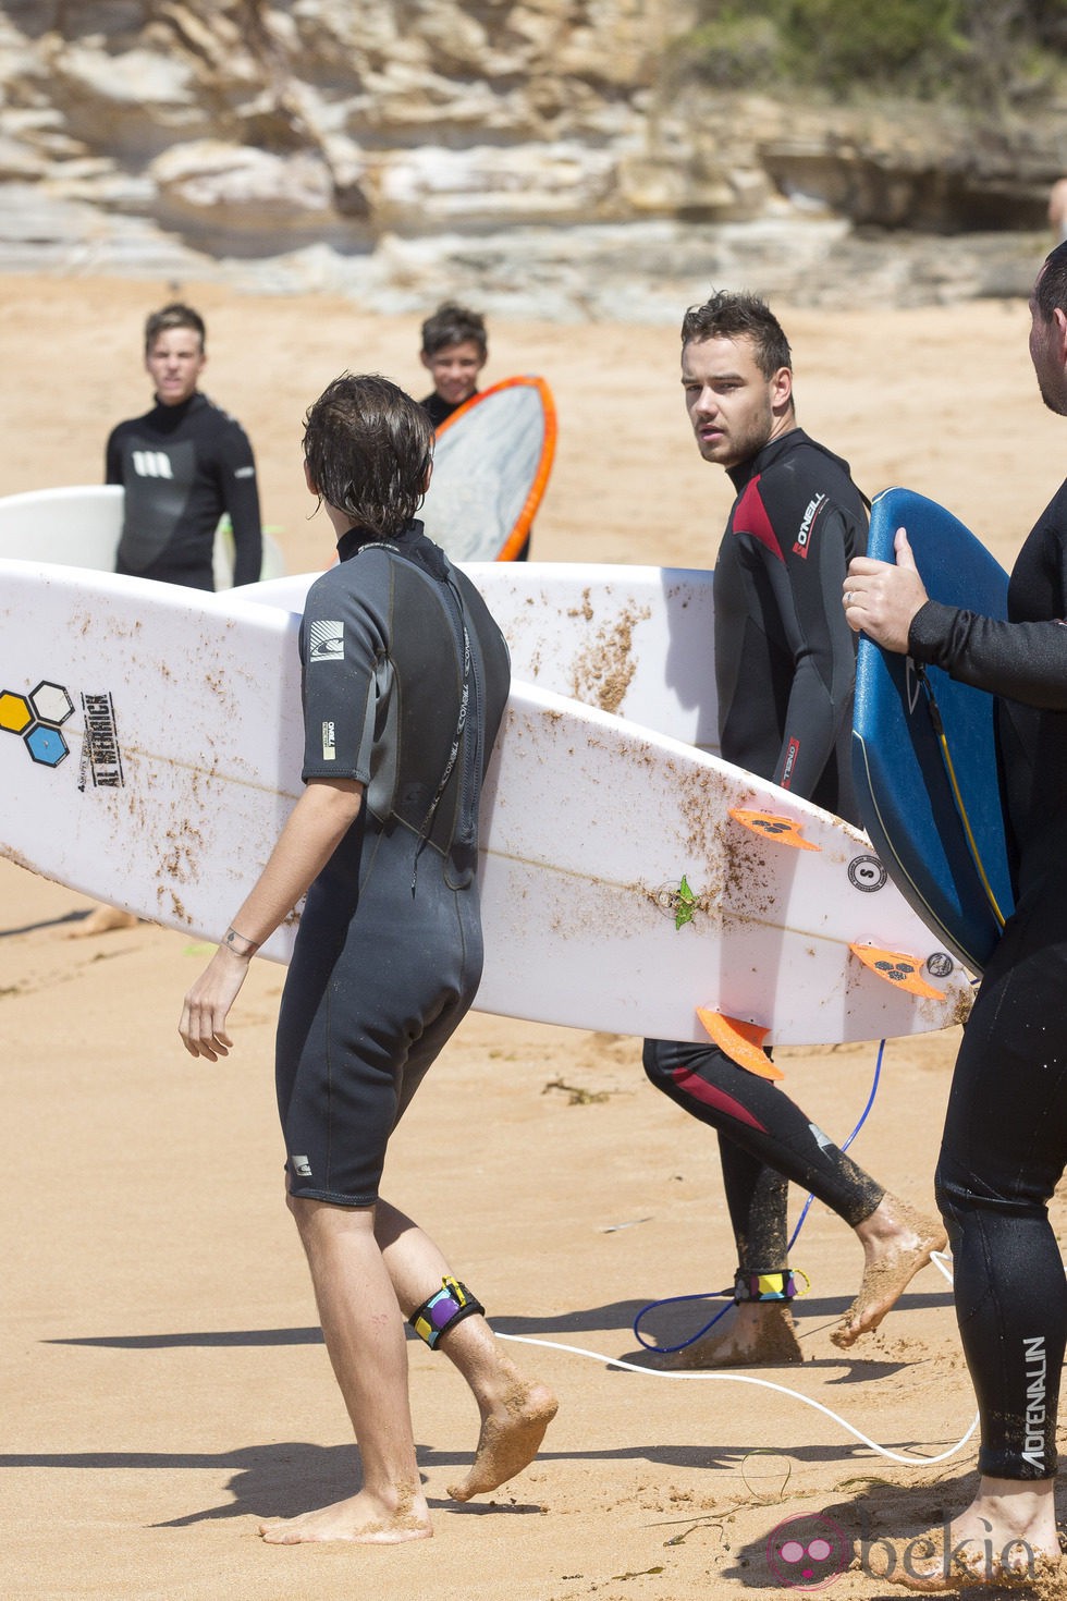
M 0 621 L 0 852 L 218 940 L 301 788 L 296 618 L 6 562 Z M 969 1004 L 856 829 L 522 682 L 485 789 L 482 885 L 486 1012 L 702 1039 L 705 1009 L 829 1044 Z M 286 924 L 266 954 L 291 941 Z

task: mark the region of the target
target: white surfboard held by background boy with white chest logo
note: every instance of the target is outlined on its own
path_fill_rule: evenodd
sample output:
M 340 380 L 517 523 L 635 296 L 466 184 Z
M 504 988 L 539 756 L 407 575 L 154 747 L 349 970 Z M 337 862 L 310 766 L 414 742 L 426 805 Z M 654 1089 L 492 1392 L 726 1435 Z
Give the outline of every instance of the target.
M 114 573 L 126 492 L 120 484 L 75 484 L 54 490 L 0 495 L 0 559 L 61 562 Z M 224 519 L 226 524 L 226 519 Z M 234 583 L 234 535 L 221 525 L 214 536 L 214 588 Z M 262 536 L 261 578 L 280 578 L 285 557 L 269 533 Z

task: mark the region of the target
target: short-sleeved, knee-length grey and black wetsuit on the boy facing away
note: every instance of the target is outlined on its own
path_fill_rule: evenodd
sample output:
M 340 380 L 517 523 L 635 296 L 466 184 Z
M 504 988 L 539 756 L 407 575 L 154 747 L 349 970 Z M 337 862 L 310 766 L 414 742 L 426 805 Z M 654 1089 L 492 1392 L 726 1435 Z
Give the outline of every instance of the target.
M 352 528 L 338 551 L 301 626 L 304 780 L 366 788 L 307 892 L 275 1066 L 291 1193 L 366 1207 L 482 977 L 478 800 L 509 663 L 421 524 L 392 544 Z

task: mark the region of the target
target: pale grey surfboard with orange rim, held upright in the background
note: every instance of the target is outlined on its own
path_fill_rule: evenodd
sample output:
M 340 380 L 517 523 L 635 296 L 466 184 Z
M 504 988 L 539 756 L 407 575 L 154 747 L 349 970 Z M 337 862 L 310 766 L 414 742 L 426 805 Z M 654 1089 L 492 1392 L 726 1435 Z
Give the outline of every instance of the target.
M 555 455 L 544 378 L 504 378 L 437 429 L 419 516 L 454 562 L 509 562 L 522 551 Z

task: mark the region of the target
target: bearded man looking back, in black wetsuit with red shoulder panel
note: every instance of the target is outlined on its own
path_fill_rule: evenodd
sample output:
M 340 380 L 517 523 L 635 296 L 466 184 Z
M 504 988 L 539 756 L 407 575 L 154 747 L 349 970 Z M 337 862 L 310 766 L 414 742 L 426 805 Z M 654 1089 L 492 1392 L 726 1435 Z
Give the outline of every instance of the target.
M 849 770 L 854 642 L 840 584 L 865 546 L 848 464 L 809 439 L 793 407 L 789 341 L 752 295 L 715 295 L 681 323 L 681 383 L 702 458 L 736 500 L 715 564 L 721 752 L 838 817 L 854 818 Z M 833 1334 L 875 1329 L 944 1230 L 886 1194 L 765 1077 L 717 1045 L 649 1039 L 651 1082 L 718 1130 L 737 1246 L 734 1305 L 672 1361 L 726 1367 L 800 1361 L 789 1302 L 789 1182 L 832 1207 L 864 1247 L 859 1295 Z

